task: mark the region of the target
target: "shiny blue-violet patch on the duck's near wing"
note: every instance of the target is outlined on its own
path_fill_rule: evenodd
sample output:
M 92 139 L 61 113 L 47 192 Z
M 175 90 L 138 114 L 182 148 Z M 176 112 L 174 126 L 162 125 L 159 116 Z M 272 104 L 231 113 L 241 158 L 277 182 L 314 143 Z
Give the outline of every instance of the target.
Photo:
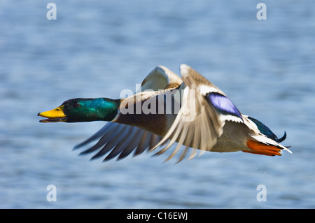
M 237 109 L 234 103 L 228 99 L 228 97 L 219 94 L 218 92 L 211 92 L 208 94 L 208 98 L 214 108 L 216 108 L 223 115 L 234 115 L 241 118 L 241 113 Z

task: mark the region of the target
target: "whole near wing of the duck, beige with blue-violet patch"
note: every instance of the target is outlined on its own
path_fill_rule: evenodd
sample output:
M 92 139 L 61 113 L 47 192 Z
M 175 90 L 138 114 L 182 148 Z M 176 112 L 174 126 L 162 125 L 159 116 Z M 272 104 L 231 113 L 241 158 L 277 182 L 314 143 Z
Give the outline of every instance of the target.
M 167 134 L 152 149 L 155 150 L 169 140 L 165 148 L 158 152 L 162 154 L 177 142 L 176 148 L 167 160 L 172 159 L 182 145 L 186 146 L 183 152 L 185 155 L 188 148 L 209 151 L 223 133 L 225 121 L 243 122 L 241 113 L 232 101 L 200 73 L 182 64 L 181 75 L 183 78 L 183 84 L 179 88 L 183 90 L 181 109 Z M 190 159 L 193 156 L 194 153 L 190 155 Z

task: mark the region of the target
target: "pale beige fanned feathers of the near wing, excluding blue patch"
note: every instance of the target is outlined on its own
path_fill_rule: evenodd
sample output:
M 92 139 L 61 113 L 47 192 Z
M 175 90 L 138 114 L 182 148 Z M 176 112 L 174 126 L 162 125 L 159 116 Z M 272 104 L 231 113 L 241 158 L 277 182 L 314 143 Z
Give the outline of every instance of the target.
M 162 154 L 175 142 L 178 143 L 167 160 L 172 159 L 176 152 L 179 152 L 181 145 L 202 150 L 201 154 L 204 151 L 211 150 L 216 144 L 217 138 L 221 136 L 225 124 L 220 119 L 220 114 L 216 108 L 207 101 L 205 94 L 198 88 L 200 82 L 204 84 L 209 81 L 186 65 L 181 66 L 181 74 L 183 78 L 183 85 L 180 88 L 183 89 L 181 109 L 167 134 L 155 146 L 155 148 L 158 148 L 162 143 L 169 140 L 165 148 L 157 152 L 157 154 Z M 211 85 L 209 83 L 208 85 Z M 152 150 L 155 150 L 155 148 Z M 183 154 L 186 155 L 187 151 L 182 153 L 180 159 L 184 158 Z M 195 157 L 195 152 L 190 154 L 190 159 L 193 157 Z

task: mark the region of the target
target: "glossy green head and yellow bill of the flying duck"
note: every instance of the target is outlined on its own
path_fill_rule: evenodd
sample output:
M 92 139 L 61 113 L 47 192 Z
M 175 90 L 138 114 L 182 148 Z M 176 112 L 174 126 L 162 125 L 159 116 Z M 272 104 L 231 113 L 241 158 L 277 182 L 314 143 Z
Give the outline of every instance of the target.
M 38 113 L 38 116 L 48 117 L 40 122 L 92 122 L 113 120 L 120 106 L 120 99 L 69 99 L 61 106 Z

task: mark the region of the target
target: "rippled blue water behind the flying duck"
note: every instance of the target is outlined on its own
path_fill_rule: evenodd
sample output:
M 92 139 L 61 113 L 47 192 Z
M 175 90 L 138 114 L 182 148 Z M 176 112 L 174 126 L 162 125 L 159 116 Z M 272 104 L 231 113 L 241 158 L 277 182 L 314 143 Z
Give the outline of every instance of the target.
M 315 1 L 0 1 L 0 208 L 315 208 Z M 186 63 L 293 154 L 89 161 L 104 123 L 39 123 L 66 99 L 117 99 Z M 47 201 L 55 185 L 57 201 Z M 265 185 L 267 201 L 258 201 Z

